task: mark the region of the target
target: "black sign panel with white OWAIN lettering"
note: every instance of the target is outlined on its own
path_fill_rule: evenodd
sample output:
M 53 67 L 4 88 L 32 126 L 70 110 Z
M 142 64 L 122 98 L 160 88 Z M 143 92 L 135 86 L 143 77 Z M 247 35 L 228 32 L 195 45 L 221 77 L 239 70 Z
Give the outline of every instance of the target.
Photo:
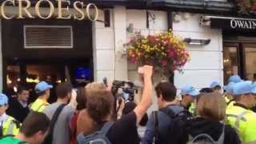
M 210 18 L 210 26 L 225 30 L 256 32 L 256 19 Z

